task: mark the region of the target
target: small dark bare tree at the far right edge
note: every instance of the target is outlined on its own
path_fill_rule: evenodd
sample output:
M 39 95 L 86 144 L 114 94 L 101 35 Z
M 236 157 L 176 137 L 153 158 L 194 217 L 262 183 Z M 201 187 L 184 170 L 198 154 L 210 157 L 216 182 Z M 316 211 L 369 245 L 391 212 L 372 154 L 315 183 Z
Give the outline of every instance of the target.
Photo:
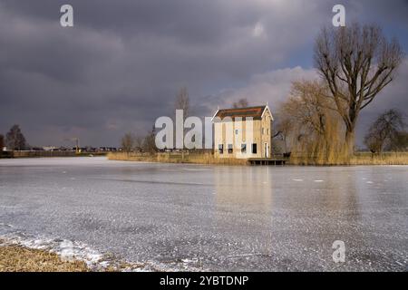
M 374 121 L 364 137 L 364 144 L 373 153 L 381 153 L 384 147 L 398 148 L 405 127 L 403 113 L 395 109 L 385 111 Z

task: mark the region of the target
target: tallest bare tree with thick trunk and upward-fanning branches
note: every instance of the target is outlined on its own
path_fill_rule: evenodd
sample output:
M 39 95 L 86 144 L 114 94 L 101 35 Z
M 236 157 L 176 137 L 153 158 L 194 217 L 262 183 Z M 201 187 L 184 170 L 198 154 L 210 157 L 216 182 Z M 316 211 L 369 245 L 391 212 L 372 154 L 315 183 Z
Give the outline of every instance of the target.
M 317 36 L 316 68 L 345 123 L 345 145 L 350 153 L 360 111 L 393 81 L 402 60 L 400 44 L 395 39 L 387 41 L 376 25 L 325 28 Z

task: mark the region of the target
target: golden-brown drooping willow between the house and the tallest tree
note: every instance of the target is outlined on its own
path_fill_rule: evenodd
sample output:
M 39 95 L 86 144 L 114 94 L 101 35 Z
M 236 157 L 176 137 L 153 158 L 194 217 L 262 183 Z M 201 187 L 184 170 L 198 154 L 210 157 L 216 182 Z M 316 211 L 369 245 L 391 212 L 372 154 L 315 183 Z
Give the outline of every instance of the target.
M 335 157 L 341 156 L 341 126 L 331 109 L 332 100 L 326 97 L 327 90 L 316 81 L 293 82 L 289 98 L 280 109 L 280 129 L 286 131 L 292 156 L 302 162 L 335 163 Z

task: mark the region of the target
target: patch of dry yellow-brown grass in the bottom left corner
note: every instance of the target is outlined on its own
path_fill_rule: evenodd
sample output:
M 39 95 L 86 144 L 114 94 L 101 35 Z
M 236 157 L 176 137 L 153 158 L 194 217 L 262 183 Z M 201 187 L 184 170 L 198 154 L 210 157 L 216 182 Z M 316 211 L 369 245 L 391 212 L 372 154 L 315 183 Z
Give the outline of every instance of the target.
M 88 272 L 83 261 L 63 261 L 45 250 L 17 245 L 0 247 L 0 272 Z

